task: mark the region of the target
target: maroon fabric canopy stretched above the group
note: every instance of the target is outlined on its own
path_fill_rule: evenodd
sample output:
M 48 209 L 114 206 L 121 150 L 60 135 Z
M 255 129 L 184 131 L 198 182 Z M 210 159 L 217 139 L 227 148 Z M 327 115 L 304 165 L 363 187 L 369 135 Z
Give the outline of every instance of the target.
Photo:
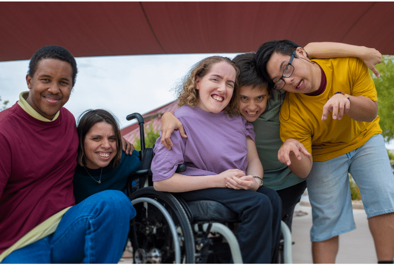
M 394 2 L 0 2 L 0 61 L 45 45 L 75 57 L 239 53 L 269 40 L 394 54 Z

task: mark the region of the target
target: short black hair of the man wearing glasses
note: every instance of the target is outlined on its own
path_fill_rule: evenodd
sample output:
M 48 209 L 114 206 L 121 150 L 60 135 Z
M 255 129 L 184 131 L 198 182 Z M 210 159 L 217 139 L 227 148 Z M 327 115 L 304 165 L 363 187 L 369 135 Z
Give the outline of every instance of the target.
M 257 50 L 255 56 L 257 71 L 263 76 L 265 80 L 273 85 L 273 82 L 267 73 L 267 62 L 271 58 L 272 54 L 280 53 L 291 56 L 291 53 L 293 53 L 294 49 L 297 49 L 297 47 L 302 46 L 289 40 L 269 41 L 263 43 Z

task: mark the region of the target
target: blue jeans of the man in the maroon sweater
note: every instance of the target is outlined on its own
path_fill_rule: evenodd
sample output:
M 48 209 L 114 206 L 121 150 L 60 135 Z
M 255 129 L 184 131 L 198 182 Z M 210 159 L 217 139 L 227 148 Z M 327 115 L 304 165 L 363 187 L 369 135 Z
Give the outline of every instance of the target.
M 123 192 L 99 192 L 69 208 L 53 234 L 15 250 L 1 263 L 116 264 L 134 216 Z

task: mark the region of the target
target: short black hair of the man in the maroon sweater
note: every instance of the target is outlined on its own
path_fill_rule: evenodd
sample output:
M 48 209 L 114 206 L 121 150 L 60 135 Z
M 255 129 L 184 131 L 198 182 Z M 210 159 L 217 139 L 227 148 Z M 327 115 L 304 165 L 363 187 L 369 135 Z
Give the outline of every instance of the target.
M 68 52 L 66 48 L 56 45 L 47 45 L 38 49 L 32 58 L 30 59 L 29 63 L 29 70 L 27 73 L 32 77 L 37 70 L 38 63 L 42 59 L 59 59 L 61 61 L 65 61 L 69 63 L 72 67 L 72 86 L 74 86 L 76 81 L 76 74 L 78 69 L 76 68 L 76 61 L 75 58 Z

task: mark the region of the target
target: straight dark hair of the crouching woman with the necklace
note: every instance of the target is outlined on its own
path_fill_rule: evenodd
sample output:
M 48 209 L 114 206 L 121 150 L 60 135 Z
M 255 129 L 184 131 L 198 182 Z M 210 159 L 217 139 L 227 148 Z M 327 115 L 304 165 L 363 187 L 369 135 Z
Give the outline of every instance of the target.
M 118 127 L 117 118 L 110 112 L 103 109 L 89 109 L 84 111 L 79 116 L 78 126 L 76 127 L 79 138 L 77 163 L 80 166 L 84 166 L 86 164 L 84 156 L 84 142 L 86 134 L 96 123 L 100 122 L 110 124 L 113 127 L 115 133 L 117 152 L 114 159 L 112 159 L 112 161 L 110 162 L 109 166 L 112 168 L 117 167 L 122 160 L 122 136 L 121 131 Z

